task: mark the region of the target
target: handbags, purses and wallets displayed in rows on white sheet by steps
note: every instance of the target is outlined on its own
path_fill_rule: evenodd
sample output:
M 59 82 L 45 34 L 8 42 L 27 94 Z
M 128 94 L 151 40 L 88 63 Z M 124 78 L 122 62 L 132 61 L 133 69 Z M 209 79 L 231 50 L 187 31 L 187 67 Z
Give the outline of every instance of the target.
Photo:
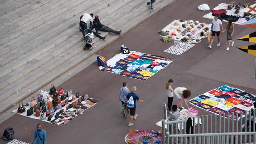
M 56 87 L 51 85 L 50 92 L 41 90 L 36 99 L 32 97 L 31 102 L 25 105 L 20 102 L 19 108 L 12 112 L 55 125 L 64 125 L 97 102 L 97 99 L 90 98 L 88 94 L 80 96 L 78 92 L 64 92 L 62 87 L 56 90 Z

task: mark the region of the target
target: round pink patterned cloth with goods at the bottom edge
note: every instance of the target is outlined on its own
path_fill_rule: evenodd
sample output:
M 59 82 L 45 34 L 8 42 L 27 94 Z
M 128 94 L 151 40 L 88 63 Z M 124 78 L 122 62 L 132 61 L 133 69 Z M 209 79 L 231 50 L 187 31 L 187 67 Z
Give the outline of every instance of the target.
M 143 144 L 143 142 L 147 142 L 146 144 L 156 144 L 157 141 L 160 142 L 159 144 L 162 144 L 162 135 L 159 132 L 154 130 L 132 130 L 124 138 L 126 144 Z

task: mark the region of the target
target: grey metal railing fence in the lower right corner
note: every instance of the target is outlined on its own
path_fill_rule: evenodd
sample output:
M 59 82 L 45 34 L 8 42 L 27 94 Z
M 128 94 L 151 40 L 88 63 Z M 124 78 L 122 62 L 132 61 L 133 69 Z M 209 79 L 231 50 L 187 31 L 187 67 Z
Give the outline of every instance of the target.
M 166 119 L 166 106 L 164 111 Z M 193 117 L 193 127 L 189 128 L 185 119 L 167 122 L 162 119 L 162 144 L 256 144 L 256 118 L 251 118 L 255 110 L 245 111 L 243 118 L 239 118 L 240 113 L 197 116 L 197 125 Z

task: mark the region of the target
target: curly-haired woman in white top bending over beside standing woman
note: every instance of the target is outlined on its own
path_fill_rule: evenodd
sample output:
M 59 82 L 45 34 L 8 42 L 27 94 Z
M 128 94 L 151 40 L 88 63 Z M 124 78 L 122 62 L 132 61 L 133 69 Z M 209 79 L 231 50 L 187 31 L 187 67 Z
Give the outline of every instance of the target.
M 176 87 L 173 94 L 179 99 L 178 108 L 183 108 L 182 103 L 185 102 L 187 109 L 189 109 L 186 99 L 191 95 L 190 90 L 187 90 L 185 87 Z

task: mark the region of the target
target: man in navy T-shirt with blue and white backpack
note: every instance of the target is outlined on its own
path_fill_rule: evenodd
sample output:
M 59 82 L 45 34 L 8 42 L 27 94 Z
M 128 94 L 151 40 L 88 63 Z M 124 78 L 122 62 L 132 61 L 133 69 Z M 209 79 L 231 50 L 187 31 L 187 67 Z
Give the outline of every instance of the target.
M 126 100 L 124 102 L 124 106 L 128 106 L 128 108 L 130 109 L 130 120 L 129 120 L 129 124 L 128 124 L 128 127 L 132 126 L 133 123 L 133 119 L 136 120 L 137 119 L 137 116 L 138 114 L 135 114 L 135 111 L 136 111 L 136 100 L 140 103 L 143 103 L 144 101 L 141 100 L 138 95 L 135 93 L 137 90 L 137 88 L 134 86 L 132 87 L 132 92 L 129 92 L 127 94 L 127 97 L 126 97 Z M 127 103 L 126 103 L 127 102 Z

